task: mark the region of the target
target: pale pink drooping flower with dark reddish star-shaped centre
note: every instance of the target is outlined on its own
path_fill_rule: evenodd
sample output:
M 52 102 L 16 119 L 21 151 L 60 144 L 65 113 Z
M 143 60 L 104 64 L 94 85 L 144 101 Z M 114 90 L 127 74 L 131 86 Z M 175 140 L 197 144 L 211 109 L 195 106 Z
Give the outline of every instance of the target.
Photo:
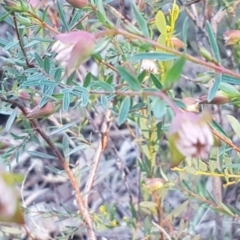
M 207 159 L 214 144 L 208 125 L 210 115 L 179 112 L 172 121 L 170 137 L 176 149 L 185 157 Z

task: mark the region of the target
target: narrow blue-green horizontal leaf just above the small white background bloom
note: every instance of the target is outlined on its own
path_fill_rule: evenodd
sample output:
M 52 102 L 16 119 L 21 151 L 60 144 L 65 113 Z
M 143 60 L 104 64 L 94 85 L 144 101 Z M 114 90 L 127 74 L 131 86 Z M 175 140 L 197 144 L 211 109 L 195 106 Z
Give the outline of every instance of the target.
M 149 59 L 149 60 L 158 60 L 160 62 L 161 61 L 172 61 L 172 60 L 175 60 L 178 58 L 176 55 L 173 55 L 170 53 L 161 53 L 161 52 L 137 53 L 131 57 L 132 57 L 133 61 Z

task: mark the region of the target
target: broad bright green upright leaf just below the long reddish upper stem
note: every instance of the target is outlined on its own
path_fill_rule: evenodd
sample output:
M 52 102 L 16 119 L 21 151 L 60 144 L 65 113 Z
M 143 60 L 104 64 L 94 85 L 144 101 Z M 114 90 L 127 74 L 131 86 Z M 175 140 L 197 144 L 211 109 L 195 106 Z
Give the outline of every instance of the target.
M 163 79 L 163 86 L 164 89 L 171 88 L 174 83 L 176 83 L 181 74 L 185 64 L 185 56 L 180 57 L 174 65 L 166 72 L 164 79 Z

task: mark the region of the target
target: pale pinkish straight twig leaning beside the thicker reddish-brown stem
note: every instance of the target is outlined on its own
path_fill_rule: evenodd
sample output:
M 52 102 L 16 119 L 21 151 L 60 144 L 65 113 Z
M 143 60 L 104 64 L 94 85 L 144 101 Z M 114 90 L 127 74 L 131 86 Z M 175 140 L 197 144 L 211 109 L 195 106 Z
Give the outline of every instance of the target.
M 86 207 L 88 206 L 89 192 L 90 192 L 93 182 L 94 182 L 94 178 L 95 178 L 95 175 L 97 172 L 98 164 L 100 162 L 101 154 L 107 145 L 109 125 L 111 122 L 111 115 L 112 115 L 112 112 L 110 109 L 108 109 L 106 116 L 103 120 L 102 126 L 101 126 L 101 131 L 99 133 L 99 140 L 98 140 L 98 145 L 97 145 L 94 159 L 93 159 L 93 166 L 92 166 L 91 172 L 89 174 L 89 177 L 87 179 L 85 190 L 84 190 L 84 192 L 85 192 L 84 203 L 85 203 Z

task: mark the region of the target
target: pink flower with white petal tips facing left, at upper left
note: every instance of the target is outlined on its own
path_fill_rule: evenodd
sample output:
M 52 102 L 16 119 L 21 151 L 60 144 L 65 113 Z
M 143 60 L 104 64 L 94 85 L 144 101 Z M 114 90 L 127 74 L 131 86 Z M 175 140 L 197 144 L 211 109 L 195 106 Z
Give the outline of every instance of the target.
M 52 51 L 57 53 L 56 60 L 67 68 L 71 75 L 91 56 L 95 47 L 95 36 L 86 31 L 62 33 L 56 36 L 57 41 Z

